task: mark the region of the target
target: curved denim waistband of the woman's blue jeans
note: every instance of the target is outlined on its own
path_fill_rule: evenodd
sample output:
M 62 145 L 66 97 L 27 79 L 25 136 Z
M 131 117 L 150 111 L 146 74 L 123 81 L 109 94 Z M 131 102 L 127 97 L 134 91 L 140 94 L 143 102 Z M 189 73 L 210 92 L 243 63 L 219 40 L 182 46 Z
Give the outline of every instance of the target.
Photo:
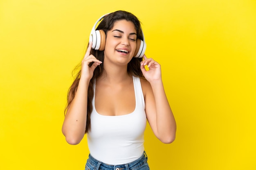
M 96 169 L 102 169 L 102 170 L 131 170 L 131 169 L 135 169 L 137 167 L 142 166 L 144 163 L 146 163 L 148 160 L 148 157 L 146 155 L 146 152 L 144 151 L 144 153 L 141 155 L 141 157 L 139 157 L 139 159 L 132 161 L 130 163 L 125 163 L 122 165 L 109 165 L 107 163 L 103 163 L 101 161 L 98 161 L 97 159 L 95 159 L 94 157 L 92 157 L 89 154 L 89 159 L 88 162 Z

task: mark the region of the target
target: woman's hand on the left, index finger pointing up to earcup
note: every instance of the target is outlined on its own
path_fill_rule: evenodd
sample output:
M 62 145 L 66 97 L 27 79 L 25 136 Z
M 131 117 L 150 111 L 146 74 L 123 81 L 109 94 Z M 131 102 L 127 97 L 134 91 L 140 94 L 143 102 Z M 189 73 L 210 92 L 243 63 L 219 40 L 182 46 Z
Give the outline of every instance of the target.
M 98 59 L 96 59 L 94 55 L 90 54 L 91 49 L 92 49 L 92 42 L 89 42 L 89 46 L 82 60 L 82 68 L 81 68 L 81 78 L 87 79 L 88 81 L 90 81 L 90 79 L 92 78 L 95 68 L 102 63 L 102 61 L 99 61 Z M 90 67 L 89 64 L 92 62 L 94 63 Z

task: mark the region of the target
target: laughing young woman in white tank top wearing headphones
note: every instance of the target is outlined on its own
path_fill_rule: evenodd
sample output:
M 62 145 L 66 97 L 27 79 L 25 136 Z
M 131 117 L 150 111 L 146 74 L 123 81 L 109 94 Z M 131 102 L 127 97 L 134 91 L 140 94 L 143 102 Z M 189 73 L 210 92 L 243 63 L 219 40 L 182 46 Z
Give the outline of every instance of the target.
M 69 144 L 79 144 L 87 133 L 86 170 L 149 170 L 146 121 L 163 143 L 173 142 L 176 133 L 161 67 L 144 55 L 137 17 L 116 11 L 102 18 L 70 87 L 62 131 Z

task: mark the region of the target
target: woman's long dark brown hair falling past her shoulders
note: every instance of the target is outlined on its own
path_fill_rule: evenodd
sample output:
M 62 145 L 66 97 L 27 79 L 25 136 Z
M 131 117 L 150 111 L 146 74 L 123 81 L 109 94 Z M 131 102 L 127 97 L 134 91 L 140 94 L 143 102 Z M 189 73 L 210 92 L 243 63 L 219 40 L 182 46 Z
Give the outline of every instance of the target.
M 115 24 L 115 22 L 119 20 L 127 20 L 131 21 L 136 29 L 137 32 L 137 38 L 143 40 L 142 36 L 142 30 L 140 21 L 138 18 L 133 15 L 130 12 L 127 11 L 116 11 L 113 13 L 110 13 L 106 15 L 106 17 L 103 18 L 103 20 L 99 23 L 96 30 L 103 30 L 105 34 L 107 35 L 107 32 L 111 30 Z M 94 50 L 92 49 L 90 54 L 94 55 L 99 61 L 102 61 L 101 65 L 97 66 L 94 70 L 92 79 L 90 80 L 89 87 L 88 87 L 88 100 L 87 100 L 87 121 L 86 121 L 86 128 L 85 133 L 87 133 L 90 130 L 90 116 L 92 113 L 92 98 L 94 96 L 94 90 L 93 90 L 93 83 L 94 79 L 101 76 L 103 73 L 103 66 L 104 66 L 104 51 Z M 131 61 L 128 63 L 127 66 L 127 72 L 128 74 L 132 76 L 137 76 L 144 78 L 141 70 L 140 70 L 140 62 L 142 61 L 142 58 L 135 58 L 133 57 Z M 65 114 L 67 112 L 67 108 L 70 106 L 72 100 L 74 99 L 74 96 L 76 94 L 76 90 L 79 84 L 80 76 L 81 76 L 81 63 L 76 66 L 76 68 L 73 70 L 73 73 L 79 70 L 77 74 L 74 76 L 74 82 L 72 83 L 71 87 L 69 88 L 68 94 L 67 94 L 67 106 L 65 108 Z

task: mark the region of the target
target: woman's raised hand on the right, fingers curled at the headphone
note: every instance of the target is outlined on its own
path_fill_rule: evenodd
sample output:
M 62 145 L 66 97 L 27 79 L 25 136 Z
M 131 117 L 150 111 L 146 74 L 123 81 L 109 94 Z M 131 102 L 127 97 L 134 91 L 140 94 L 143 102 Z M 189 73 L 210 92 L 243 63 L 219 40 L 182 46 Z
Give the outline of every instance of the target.
M 161 77 L 161 65 L 152 58 L 147 58 L 144 54 L 143 61 L 141 61 L 140 69 L 146 80 L 150 83 L 153 81 L 162 81 Z M 145 69 L 145 65 L 148 65 L 149 70 Z

